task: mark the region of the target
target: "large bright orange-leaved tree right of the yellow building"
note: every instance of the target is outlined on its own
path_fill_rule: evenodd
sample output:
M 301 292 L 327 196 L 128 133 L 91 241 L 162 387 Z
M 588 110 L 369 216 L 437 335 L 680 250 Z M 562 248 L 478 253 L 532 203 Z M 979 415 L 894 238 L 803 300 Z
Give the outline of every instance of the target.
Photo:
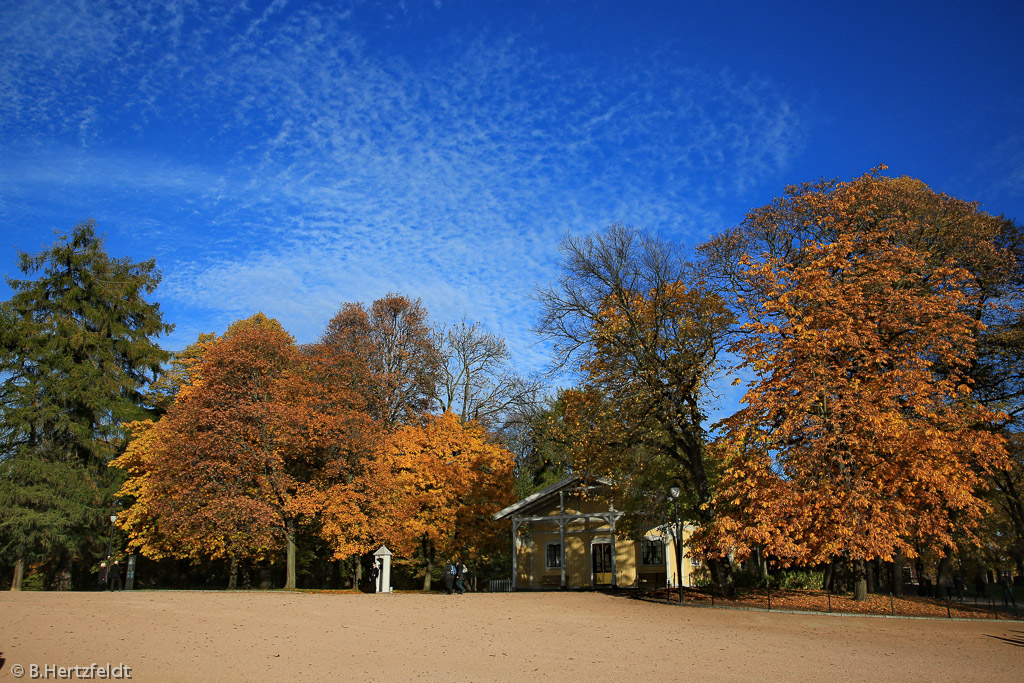
M 986 472 L 1006 464 L 1001 417 L 969 378 L 979 279 L 922 248 L 891 189 L 869 174 L 772 206 L 808 224 L 787 249 L 740 258 L 734 350 L 756 380 L 717 442 L 718 542 L 782 563 L 847 556 L 858 599 L 865 560 L 955 548 L 987 509 Z

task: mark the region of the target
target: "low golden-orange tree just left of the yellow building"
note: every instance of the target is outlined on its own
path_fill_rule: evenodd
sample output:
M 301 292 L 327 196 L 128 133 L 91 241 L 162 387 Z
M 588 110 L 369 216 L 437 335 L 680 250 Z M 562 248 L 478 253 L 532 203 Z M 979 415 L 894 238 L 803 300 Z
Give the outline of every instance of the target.
M 430 590 L 435 561 L 502 543 L 490 515 L 512 502 L 513 460 L 478 425 L 451 412 L 425 416 L 385 436 L 365 472 L 335 492 L 344 504 L 327 507 L 325 527 L 362 529 L 364 547 L 418 553 Z

